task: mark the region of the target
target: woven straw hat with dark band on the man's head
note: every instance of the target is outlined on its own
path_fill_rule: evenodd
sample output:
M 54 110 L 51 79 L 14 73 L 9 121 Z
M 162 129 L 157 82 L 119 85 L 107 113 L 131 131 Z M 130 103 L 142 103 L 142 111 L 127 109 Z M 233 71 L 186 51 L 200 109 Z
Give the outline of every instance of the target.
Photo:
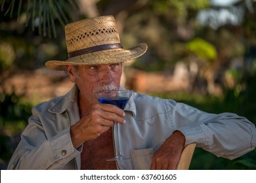
M 65 26 L 68 59 L 51 60 L 46 67 L 62 71 L 64 65 L 121 63 L 146 52 L 145 43 L 124 49 L 119 40 L 114 16 L 99 16 Z

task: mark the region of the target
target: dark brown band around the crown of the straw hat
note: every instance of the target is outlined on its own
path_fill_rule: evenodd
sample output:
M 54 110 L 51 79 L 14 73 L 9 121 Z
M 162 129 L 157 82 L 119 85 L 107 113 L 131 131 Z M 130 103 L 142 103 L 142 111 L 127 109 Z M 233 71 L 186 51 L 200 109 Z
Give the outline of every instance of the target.
M 110 50 L 110 49 L 115 49 L 115 48 L 123 48 L 120 43 L 115 43 L 115 44 L 102 44 L 98 46 L 92 46 L 89 48 L 84 48 L 81 50 L 75 50 L 74 52 L 70 52 L 68 54 L 68 58 L 74 58 L 75 56 L 81 56 L 83 54 L 89 54 L 93 52 L 98 52 L 102 50 Z

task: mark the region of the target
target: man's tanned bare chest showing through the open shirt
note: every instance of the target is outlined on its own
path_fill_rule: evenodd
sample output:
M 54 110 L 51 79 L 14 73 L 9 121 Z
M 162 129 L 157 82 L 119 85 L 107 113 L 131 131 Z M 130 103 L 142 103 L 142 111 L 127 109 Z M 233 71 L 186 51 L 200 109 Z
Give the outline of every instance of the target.
M 106 161 L 114 157 L 112 129 L 110 128 L 100 137 L 83 144 L 81 152 L 81 169 L 112 170 L 116 168 L 116 161 Z

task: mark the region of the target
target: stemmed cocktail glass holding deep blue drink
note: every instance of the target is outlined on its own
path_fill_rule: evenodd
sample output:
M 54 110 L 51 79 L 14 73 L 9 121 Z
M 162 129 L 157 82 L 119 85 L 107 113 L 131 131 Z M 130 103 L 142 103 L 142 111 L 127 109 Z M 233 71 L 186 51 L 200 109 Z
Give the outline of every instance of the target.
M 96 99 L 98 99 L 100 103 L 112 104 L 112 105 L 116 105 L 116 107 L 124 109 L 132 94 L 133 94 L 132 90 L 119 90 L 119 91 L 112 90 L 112 91 L 106 91 L 106 92 L 96 92 L 95 97 Z M 114 139 L 116 144 L 115 146 L 116 157 L 112 159 L 106 159 L 106 160 L 116 161 L 116 160 L 122 160 L 122 159 L 129 159 L 129 158 L 123 157 L 119 149 L 117 122 L 114 122 L 114 137 L 115 137 Z

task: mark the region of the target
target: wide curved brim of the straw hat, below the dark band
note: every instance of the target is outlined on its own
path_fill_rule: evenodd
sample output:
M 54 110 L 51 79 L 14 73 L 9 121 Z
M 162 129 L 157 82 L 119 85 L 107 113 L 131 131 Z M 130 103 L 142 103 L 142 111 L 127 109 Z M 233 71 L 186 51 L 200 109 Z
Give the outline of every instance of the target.
M 142 56 L 148 46 L 145 43 L 137 44 L 128 49 L 117 48 L 111 50 L 102 50 L 83 54 L 69 58 L 66 61 L 51 60 L 45 63 L 45 66 L 55 71 L 64 71 L 66 65 L 91 65 L 91 64 L 111 64 L 129 61 Z

